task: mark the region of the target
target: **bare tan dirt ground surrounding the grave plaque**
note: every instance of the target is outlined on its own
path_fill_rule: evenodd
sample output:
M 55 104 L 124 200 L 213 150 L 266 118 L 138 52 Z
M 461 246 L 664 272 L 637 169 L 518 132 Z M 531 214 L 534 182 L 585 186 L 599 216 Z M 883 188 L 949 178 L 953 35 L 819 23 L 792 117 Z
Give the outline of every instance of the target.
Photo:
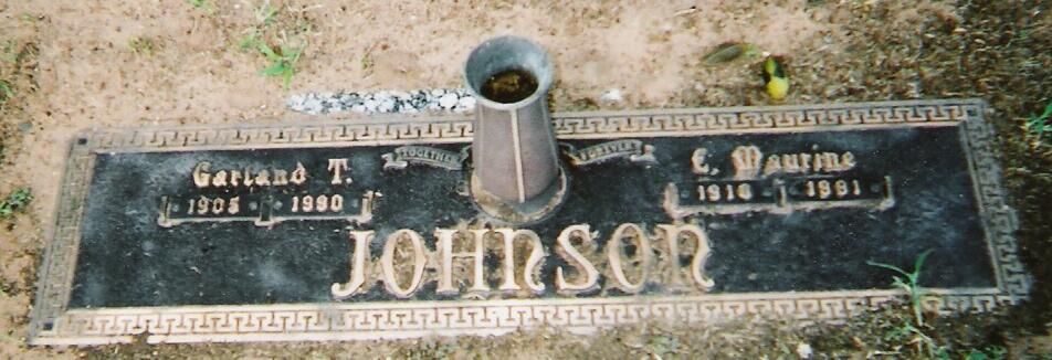
M 901 308 L 842 325 L 744 319 L 705 328 L 646 325 L 582 337 L 249 346 L 27 348 L 27 316 L 74 134 L 95 127 L 302 119 L 292 94 L 460 87 L 471 47 L 528 36 L 557 66 L 555 110 L 775 104 L 761 57 L 705 66 L 727 42 L 779 56 L 783 104 L 981 97 L 990 102 L 1007 186 L 1020 213 L 1033 298 L 999 314 L 933 319 L 951 358 L 972 350 L 1052 358 L 1052 151 L 1022 128 L 1052 98 L 1050 1 L 29 1 L 0 0 L 0 195 L 32 190 L 0 220 L 0 358 L 793 358 L 923 357 L 887 336 Z M 273 49 L 302 47 L 285 87 L 261 75 Z M 243 49 L 248 47 L 248 50 Z M 283 53 L 285 51 L 282 51 Z M 603 102 L 619 88 L 624 99 Z M 350 115 L 344 115 L 353 117 Z M 353 119 L 349 119 L 353 120 Z

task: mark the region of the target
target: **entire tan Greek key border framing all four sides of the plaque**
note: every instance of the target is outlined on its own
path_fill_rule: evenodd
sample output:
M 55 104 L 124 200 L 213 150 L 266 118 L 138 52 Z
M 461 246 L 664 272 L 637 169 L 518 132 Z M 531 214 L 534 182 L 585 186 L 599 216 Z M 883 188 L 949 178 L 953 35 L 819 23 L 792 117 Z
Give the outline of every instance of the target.
M 975 99 L 744 107 L 652 112 L 571 113 L 553 116 L 560 138 L 701 136 L 895 126 L 962 126 L 980 202 L 980 216 L 997 274 L 997 288 L 944 289 L 928 309 L 988 311 L 1027 298 L 1031 279 L 1018 256 L 1014 212 L 1007 207 L 993 133 Z M 892 300 L 893 290 L 719 294 L 685 297 L 518 299 L 450 303 L 278 304 L 66 310 L 75 269 L 78 226 L 99 151 L 180 151 L 265 147 L 466 142 L 466 118 L 332 123 L 229 128 L 103 130 L 71 150 L 56 210 L 53 241 L 41 266 L 31 314 L 32 345 L 340 340 L 428 335 L 497 335 L 523 327 L 569 330 L 670 319 L 687 324 L 774 314 L 801 320 L 843 318 Z M 526 316 L 526 315 L 529 316 Z

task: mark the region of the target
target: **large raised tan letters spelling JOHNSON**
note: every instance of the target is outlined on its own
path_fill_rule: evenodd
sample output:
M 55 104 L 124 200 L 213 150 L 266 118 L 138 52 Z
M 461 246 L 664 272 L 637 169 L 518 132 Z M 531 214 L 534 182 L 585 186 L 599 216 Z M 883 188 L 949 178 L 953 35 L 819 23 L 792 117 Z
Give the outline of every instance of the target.
M 208 200 L 208 199 L 204 199 Z M 236 202 L 232 198 L 225 202 Z M 223 202 L 207 201 L 204 211 L 222 208 Z M 217 205 L 220 203 L 220 205 Z M 315 203 L 317 205 L 317 203 Z M 217 209 L 218 209 L 217 208 Z M 223 208 L 229 209 L 229 208 Z M 197 209 L 194 209 L 197 210 Z M 609 276 L 604 284 L 628 294 L 640 294 L 654 282 L 664 282 L 670 292 L 709 290 L 715 282 L 706 275 L 705 263 L 711 247 L 705 231 L 695 224 L 658 224 L 652 239 L 643 225 L 622 223 L 607 241 L 604 253 L 596 251 L 596 234 L 588 224 L 564 229 L 556 239 L 556 253 L 567 265 L 556 266 L 554 286 L 559 295 L 575 296 L 599 290 L 600 276 Z M 435 229 L 436 245 L 429 251 L 424 239 L 409 229 L 397 230 L 387 235 L 378 258 L 370 257 L 370 244 L 375 231 L 350 231 L 350 266 L 347 283 L 334 283 L 333 298 L 346 299 L 383 283 L 383 288 L 393 297 L 411 298 L 420 293 L 423 284 L 436 280 L 435 292 L 441 295 L 466 293 L 473 297 L 490 295 L 485 256 L 487 241 L 501 236 L 501 285 L 505 296 L 530 296 L 544 294 L 546 284 L 541 278 L 543 264 L 547 256 L 544 243 L 536 232 L 513 227 L 498 229 Z M 518 246 L 516 246 L 518 245 Z M 655 257 L 654 251 L 661 252 Z M 528 253 L 528 256 L 524 256 Z M 606 256 L 596 263 L 591 256 Z M 660 263 L 659 263 L 660 260 Z M 690 262 L 686 265 L 685 261 Z M 602 272 L 597 265 L 604 266 Z M 428 268 L 438 271 L 429 276 Z M 574 269 L 568 273 L 567 266 Z M 469 274 L 470 272 L 470 274 Z M 376 274 L 370 279 L 369 274 Z M 494 276 L 496 277 L 496 276 Z M 571 278 L 568 278 L 571 277 Z

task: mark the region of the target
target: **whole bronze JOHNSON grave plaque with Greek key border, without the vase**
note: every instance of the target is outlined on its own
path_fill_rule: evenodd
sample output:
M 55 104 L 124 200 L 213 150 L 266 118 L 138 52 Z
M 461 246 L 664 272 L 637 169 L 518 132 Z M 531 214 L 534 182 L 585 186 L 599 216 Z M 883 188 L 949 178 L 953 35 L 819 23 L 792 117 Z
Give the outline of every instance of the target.
M 572 331 L 1028 295 L 981 100 L 553 114 L 559 194 L 472 197 L 469 117 L 98 130 L 72 146 L 33 345 Z

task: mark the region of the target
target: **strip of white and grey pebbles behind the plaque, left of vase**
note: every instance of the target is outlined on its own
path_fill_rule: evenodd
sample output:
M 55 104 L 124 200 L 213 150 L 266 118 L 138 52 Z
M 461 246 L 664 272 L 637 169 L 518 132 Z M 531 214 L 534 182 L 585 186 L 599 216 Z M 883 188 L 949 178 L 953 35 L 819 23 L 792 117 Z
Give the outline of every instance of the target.
M 293 95 L 288 109 L 311 115 L 355 112 L 360 114 L 466 113 L 475 108 L 475 97 L 463 88 L 410 92 L 308 93 Z

